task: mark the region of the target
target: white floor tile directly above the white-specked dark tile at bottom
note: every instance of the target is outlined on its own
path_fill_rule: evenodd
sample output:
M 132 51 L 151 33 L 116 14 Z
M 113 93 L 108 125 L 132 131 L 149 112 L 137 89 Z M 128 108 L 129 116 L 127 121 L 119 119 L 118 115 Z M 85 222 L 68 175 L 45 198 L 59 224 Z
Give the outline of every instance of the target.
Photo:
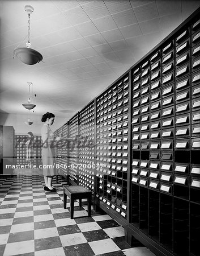
M 62 246 L 78 245 L 80 243 L 87 243 L 86 238 L 82 233 L 67 234 L 59 237 Z

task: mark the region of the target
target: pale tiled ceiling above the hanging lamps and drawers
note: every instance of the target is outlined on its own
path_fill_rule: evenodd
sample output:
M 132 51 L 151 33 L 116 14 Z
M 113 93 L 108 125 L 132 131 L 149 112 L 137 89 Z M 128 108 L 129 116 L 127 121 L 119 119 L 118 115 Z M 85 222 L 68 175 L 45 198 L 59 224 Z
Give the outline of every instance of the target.
M 32 48 L 43 62 L 25 65 L 15 47 L 25 47 L 31 14 Z M 1 0 L 2 113 L 27 114 L 33 83 L 35 113 L 66 121 L 173 31 L 200 6 L 198 0 Z

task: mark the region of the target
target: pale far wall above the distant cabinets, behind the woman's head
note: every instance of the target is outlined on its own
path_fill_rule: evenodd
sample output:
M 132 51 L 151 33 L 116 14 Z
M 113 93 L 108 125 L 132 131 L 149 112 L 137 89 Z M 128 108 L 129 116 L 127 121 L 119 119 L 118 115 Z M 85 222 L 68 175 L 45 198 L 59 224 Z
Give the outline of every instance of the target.
M 28 121 L 28 114 L 0 113 L 0 125 L 13 126 L 15 134 L 27 135 L 28 131 L 32 131 L 34 135 L 40 135 L 40 129 L 42 126 L 41 115 L 32 114 L 30 115 L 30 119 L 33 124 L 29 126 L 24 123 L 24 121 Z M 56 117 L 55 123 L 51 127 L 52 131 L 57 130 L 64 123 L 65 118 Z

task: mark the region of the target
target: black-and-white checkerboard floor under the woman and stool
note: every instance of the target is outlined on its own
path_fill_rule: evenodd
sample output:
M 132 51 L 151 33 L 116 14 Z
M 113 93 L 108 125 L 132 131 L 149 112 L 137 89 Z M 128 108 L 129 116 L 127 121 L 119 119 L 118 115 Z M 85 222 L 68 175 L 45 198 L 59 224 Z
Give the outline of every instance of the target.
M 75 203 L 71 220 L 69 201 L 63 209 L 66 183 L 61 177 L 53 183 L 57 191 L 45 192 L 43 176 L 0 176 L 0 255 L 154 255 L 130 247 L 124 228 L 107 214 L 92 210 L 88 217 L 84 204 L 80 209 Z

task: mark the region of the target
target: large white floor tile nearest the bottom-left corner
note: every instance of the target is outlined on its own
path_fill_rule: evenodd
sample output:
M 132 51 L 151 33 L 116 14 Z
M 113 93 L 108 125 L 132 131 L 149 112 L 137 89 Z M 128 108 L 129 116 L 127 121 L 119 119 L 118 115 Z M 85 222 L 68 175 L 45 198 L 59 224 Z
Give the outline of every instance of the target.
M 18 254 L 32 253 L 35 249 L 34 240 L 7 243 L 3 256 L 12 256 Z

